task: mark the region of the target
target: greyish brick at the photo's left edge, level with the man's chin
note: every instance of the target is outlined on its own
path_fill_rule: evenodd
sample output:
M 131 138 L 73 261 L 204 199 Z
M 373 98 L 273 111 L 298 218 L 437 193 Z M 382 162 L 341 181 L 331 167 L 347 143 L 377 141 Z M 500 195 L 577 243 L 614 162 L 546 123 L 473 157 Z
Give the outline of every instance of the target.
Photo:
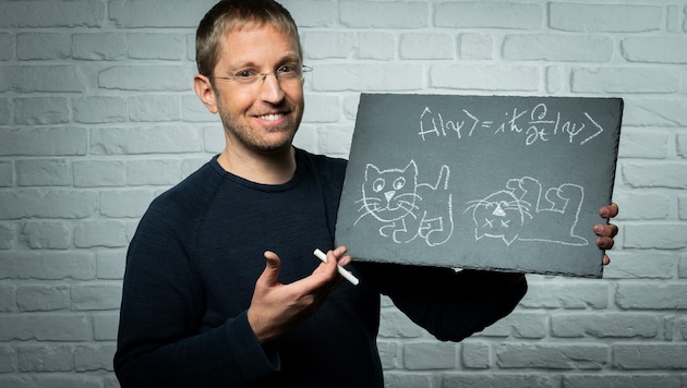
M 80 128 L 27 128 L 0 131 L 0 155 L 85 155 L 86 140 L 86 130 Z

